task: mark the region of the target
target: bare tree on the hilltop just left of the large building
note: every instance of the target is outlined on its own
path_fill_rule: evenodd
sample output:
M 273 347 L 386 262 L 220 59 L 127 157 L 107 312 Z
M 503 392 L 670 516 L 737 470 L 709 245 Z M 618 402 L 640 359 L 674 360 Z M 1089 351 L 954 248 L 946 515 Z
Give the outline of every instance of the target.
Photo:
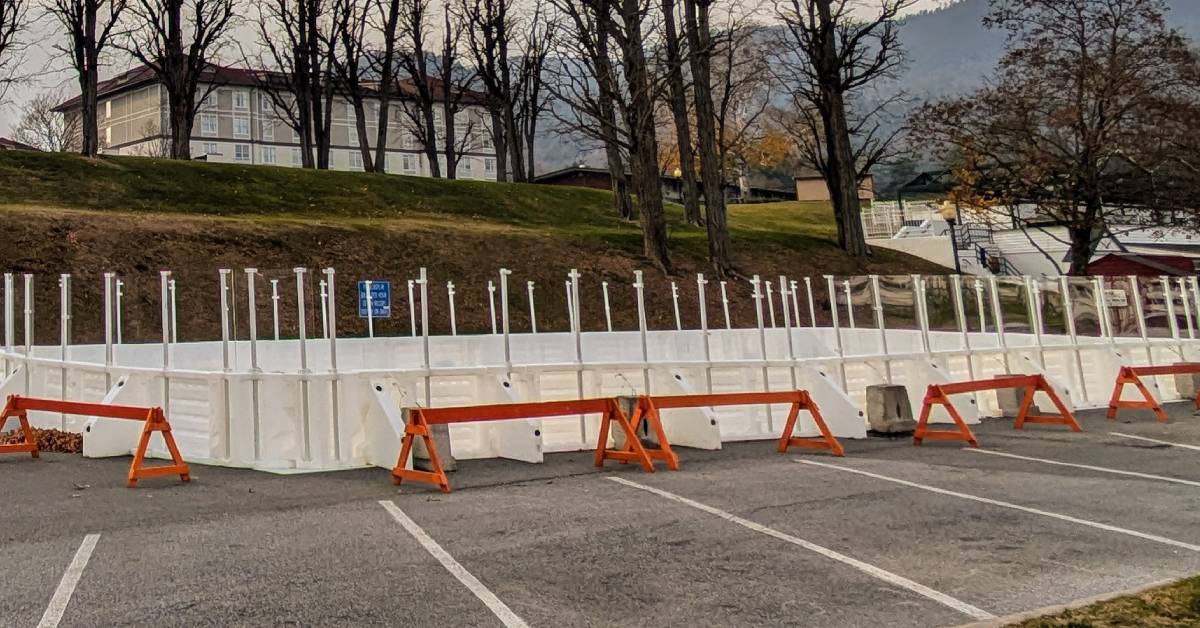
M 4 0 L 0 0 L 2 2 Z M 79 151 L 88 157 L 100 152 L 100 132 L 96 122 L 96 91 L 100 84 L 100 64 L 119 29 L 127 0 L 53 0 L 47 5 L 66 31 L 66 43 L 55 49 L 71 59 L 79 84 Z

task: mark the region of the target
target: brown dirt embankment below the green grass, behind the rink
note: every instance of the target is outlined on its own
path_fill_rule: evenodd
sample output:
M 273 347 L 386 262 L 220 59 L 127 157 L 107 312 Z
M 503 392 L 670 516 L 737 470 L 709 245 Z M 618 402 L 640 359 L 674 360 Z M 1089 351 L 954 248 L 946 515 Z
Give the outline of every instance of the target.
M 499 268 L 509 268 L 509 306 L 514 330 L 529 329 L 527 281 L 535 283 L 538 329 L 565 330 L 566 273 L 578 269 L 584 329 L 604 329 L 601 282 L 608 282 L 614 328 L 636 329 L 637 310 L 632 288 L 634 271 L 644 269 L 647 316 L 652 328 L 674 327 L 671 281 L 679 288 L 683 324 L 698 321 L 696 273 L 706 271 L 703 259 L 676 256 L 678 275 L 662 276 L 649 270 L 644 259 L 596 240 L 545 237 L 517 228 L 472 226 L 460 221 L 444 223 L 319 222 L 180 215 L 114 214 L 42 208 L 0 209 L 7 246 L 0 249 L 5 271 L 35 274 L 35 337 L 40 343 L 59 339 L 58 275 L 72 275 L 72 341 L 96 342 L 103 337 L 102 274 L 116 273 L 124 281 L 124 340 L 161 339 L 160 276 L 172 270 L 178 301 L 179 340 L 220 339 L 218 268 L 233 269 L 229 294 L 236 336 L 246 337 L 247 267 L 258 268 L 254 299 L 258 331 L 272 334 L 270 280 L 277 280 L 281 335 L 296 334 L 296 282 L 293 268 L 310 271 L 304 285 L 308 334 L 319 334 L 319 269 L 336 269 L 337 325 L 341 335 L 365 335 L 366 325 L 356 316 L 355 283 L 359 280 L 390 280 L 392 316 L 377 321 L 377 334 L 409 333 L 407 280 L 426 267 L 430 276 L 430 328 L 445 334 L 450 329 L 446 282 L 454 282 L 456 321 L 460 333 L 491 329 L 487 281 L 497 283 Z M 804 275 L 863 273 L 938 273 L 942 269 L 917 258 L 878 252 L 865 265 L 845 258 L 814 259 L 803 250 L 736 241 L 739 264 L 746 275 L 761 274 L 776 282 L 780 274 L 792 279 Z M 817 300 L 824 301 L 823 281 L 815 281 Z M 708 319 L 724 325 L 720 287 L 708 291 Z M 727 285 L 730 312 L 734 325 L 755 324 L 755 307 L 746 281 Z M 22 280 L 16 279 L 17 337 L 22 339 Z M 778 301 L 776 318 L 782 324 Z M 802 295 L 800 303 L 804 303 Z M 500 294 L 496 294 L 499 307 Z M 806 312 L 806 306 L 802 305 Z M 828 307 L 818 309 L 828 311 Z M 764 307 L 764 316 L 766 307 Z

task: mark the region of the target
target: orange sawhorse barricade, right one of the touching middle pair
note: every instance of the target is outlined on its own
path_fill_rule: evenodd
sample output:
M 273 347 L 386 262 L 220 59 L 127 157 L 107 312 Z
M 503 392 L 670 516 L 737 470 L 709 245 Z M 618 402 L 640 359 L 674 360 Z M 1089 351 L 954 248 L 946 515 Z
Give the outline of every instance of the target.
M 784 425 L 784 432 L 779 437 L 780 454 L 786 453 L 788 447 L 800 447 L 805 449 L 828 450 L 835 456 L 846 455 L 841 443 L 839 443 L 838 439 L 834 438 L 833 432 L 829 431 L 829 426 L 821 415 L 821 409 L 817 408 L 816 402 L 812 401 L 812 396 L 809 395 L 808 390 L 781 390 L 776 393 L 712 393 L 707 395 L 642 395 L 637 397 L 632 424 L 634 427 L 637 429 L 643 418 L 650 420 L 650 425 L 659 432 L 658 436 L 660 442 L 665 443 L 666 436 L 661 433 L 662 419 L 659 415 L 660 409 L 748 406 L 761 403 L 791 405 L 787 413 L 787 421 Z M 816 424 L 821 436 L 792 436 L 792 432 L 796 430 L 796 420 L 799 418 L 802 409 L 808 411 L 812 417 L 812 421 Z M 671 457 L 667 459 L 668 468 L 678 468 L 678 460 L 674 459 L 674 454 L 670 453 L 670 447 L 667 447 L 666 450 L 671 455 Z M 674 466 L 671 466 L 672 463 L 674 463 Z

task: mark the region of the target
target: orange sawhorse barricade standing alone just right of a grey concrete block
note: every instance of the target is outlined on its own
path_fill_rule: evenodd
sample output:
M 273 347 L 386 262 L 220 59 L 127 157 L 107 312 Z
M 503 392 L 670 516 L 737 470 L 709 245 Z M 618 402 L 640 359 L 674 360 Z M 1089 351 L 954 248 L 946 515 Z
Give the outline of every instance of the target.
M 979 393 L 983 390 L 1001 390 L 1004 388 L 1020 388 L 1025 390 L 1025 396 L 1021 399 L 1021 407 L 1016 413 L 1013 429 L 1024 429 L 1026 423 L 1042 423 L 1067 425 L 1070 427 L 1070 431 L 1081 431 L 1079 423 L 1075 421 L 1075 417 L 1067 408 L 1067 405 L 1062 402 L 1062 399 L 1058 397 L 1058 394 L 1055 393 L 1054 388 L 1046 382 L 1044 376 L 1014 375 L 1009 377 L 997 377 L 995 379 L 972 379 L 948 384 L 929 384 L 929 388 L 925 389 L 925 399 L 922 401 L 920 418 L 917 420 L 917 429 L 912 432 L 913 444 L 919 445 L 926 439 L 964 441 L 971 447 L 979 447 L 979 441 L 976 438 L 974 432 L 971 431 L 971 427 L 968 427 L 966 421 L 962 420 L 962 415 L 954 408 L 954 403 L 950 402 L 950 395 Z M 1033 407 L 1033 396 L 1037 393 L 1045 393 L 1058 409 L 1058 414 L 1030 414 L 1030 409 Z M 929 414 L 932 412 L 934 406 L 942 406 L 946 408 L 950 419 L 954 420 L 954 430 L 929 429 Z

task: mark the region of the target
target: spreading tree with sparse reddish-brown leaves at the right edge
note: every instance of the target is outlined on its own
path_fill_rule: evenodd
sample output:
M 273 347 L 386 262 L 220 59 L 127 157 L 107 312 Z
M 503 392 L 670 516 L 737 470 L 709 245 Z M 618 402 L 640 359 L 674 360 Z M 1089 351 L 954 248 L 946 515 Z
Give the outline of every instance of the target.
M 1122 229 L 1200 222 L 1200 59 L 1165 11 L 1163 0 L 992 1 L 985 24 L 1008 31 L 995 77 L 913 118 L 966 195 L 1018 227 L 1066 227 L 1070 274 Z

